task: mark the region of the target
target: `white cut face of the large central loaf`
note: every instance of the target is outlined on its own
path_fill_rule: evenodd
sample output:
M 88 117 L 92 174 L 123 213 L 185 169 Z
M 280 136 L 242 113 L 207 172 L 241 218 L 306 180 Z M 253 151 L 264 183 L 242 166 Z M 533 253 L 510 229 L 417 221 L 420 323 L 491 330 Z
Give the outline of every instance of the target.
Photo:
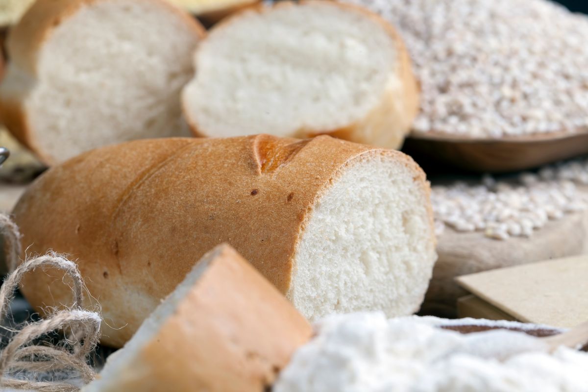
M 289 298 L 308 319 L 419 309 L 436 260 L 429 190 L 413 165 L 370 153 L 340 170 L 298 243 Z

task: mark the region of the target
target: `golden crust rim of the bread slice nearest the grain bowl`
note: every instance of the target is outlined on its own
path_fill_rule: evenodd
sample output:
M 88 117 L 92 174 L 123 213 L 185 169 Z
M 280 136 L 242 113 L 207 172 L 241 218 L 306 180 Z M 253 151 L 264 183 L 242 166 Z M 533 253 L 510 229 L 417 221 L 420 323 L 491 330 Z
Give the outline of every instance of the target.
M 410 57 L 402 38 L 400 38 L 395 28 L 379 15 L 357 5 L 325 0 L 303 0 L 298 3 L 293 1 L 280 1 L 271 6 L 263 3 L 249 6 L 244 12 L 238 12 L 223 19 L 214 26 L 213 31 L 225 28 L 234 19 L 240 18 L 245 12 L 262 14 L 273 8 L 293 7 L 298 4 L 332 4 L 333 6 L 350 9 L 368 16 L 376 24 L 382 26 L 390 37 L 392 37 L 396 43 L 398 61 L 396 62 L 395 69 L 390 70 L 389 83 L 380 97 L 378 105 L 367 113 L 364 118 L 338 129 L 299 129 L 293 136 L 296 138 L 309 138 L 316 135 L 330 135 L 356 143 L 399 149 L 402 146 L 405 136 L 409 133 L 413 120 L 419 110 L 420 93 L 418 83 L 412 71 L 412 63 L 410 62 Z M 190 115 L 190 110 L 186 109 L 185 102 L 182 102 L 182 106 L 183 113 L 192 129 L 193 135 L 201 137 L 215 136 L 201 129 L 197 119 L 193 118 Z

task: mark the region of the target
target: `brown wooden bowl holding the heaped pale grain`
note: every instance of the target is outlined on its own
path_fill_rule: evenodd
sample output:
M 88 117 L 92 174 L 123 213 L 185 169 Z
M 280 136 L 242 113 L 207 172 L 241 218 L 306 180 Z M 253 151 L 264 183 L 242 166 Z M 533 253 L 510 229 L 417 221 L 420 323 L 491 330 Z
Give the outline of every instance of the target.
M 588 129 L 501 139 L 413 133 L 403 151 L 417 162 L 429 160 L 470 172 L 505 173 L 588 153 Z

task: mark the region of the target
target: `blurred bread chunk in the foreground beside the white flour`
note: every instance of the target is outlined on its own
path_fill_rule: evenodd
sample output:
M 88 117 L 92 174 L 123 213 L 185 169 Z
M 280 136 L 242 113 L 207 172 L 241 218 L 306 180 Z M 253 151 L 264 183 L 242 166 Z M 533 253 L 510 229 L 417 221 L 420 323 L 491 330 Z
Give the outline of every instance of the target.
M 83 392 L 263 392 L 311 335 L 275 287 L 220 245 Z

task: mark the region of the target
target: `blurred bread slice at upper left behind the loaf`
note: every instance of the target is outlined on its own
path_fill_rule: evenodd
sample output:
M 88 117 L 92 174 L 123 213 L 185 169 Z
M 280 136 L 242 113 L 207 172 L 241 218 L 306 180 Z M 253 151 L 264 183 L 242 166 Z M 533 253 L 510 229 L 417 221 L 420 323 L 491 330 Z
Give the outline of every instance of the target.
M 202 35 L 163 0 L 39 0 L 8 38 L 2 119 L 48 164 L 182 135 L 180 91 Z

